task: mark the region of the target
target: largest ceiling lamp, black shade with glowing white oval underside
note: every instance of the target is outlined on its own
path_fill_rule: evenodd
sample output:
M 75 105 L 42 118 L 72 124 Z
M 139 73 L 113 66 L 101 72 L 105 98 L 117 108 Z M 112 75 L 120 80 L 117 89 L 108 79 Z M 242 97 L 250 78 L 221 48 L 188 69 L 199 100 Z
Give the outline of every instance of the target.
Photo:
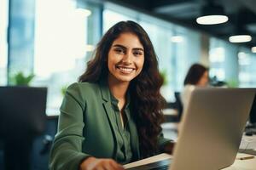
M 224 14 L 224 8 L 220 5 L 208 3 L 201 8 L 201 16 L 196 22 L 201 25 L 215 25 L 227 22 L 229 18 Z

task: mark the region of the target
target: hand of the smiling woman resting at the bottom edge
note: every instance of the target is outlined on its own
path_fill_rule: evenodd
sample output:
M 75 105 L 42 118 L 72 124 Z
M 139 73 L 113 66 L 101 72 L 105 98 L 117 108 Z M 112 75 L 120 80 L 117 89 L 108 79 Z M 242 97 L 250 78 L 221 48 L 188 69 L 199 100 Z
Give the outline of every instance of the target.
M 125 170 L 125 168 L 113 159 L 88 157 L 80 164 L 80 170 Z

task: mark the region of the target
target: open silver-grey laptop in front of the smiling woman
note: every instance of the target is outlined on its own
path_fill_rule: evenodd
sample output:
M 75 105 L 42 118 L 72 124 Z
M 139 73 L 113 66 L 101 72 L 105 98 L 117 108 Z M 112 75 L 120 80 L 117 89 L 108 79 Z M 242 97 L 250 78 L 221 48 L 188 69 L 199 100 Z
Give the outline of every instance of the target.
M 233 164 L 255 94 L 256 88 L 195 88 L 183 111 L 173 156 L 160 155 L 169 160 L 171 157 L 166 169 L 217 170 Z M 124 167 L 165 169 L 165 158 L 154 159 Z

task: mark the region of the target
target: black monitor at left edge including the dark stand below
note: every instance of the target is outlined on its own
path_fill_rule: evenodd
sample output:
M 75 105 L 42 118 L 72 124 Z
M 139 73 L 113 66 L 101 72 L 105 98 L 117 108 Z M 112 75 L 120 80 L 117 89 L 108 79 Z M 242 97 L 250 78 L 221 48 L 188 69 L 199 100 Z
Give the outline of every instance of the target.
M 5 170 L 30 170 L 33 138 L 46 127 L 47 88 L 0 87 L 0 141 Z

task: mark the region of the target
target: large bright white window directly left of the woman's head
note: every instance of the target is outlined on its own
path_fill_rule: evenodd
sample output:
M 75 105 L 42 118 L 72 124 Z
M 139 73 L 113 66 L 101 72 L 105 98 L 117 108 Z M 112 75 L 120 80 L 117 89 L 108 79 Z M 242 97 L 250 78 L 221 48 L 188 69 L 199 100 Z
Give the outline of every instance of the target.
M 37 1 L 33 85 L 48 87 L 47 114 L 56 114 L 63 92 L 84 72 L 99 38 L 99 8 L 70 0 Z M 93 20 L 93 21 L 91 21 Z M 90 37 L 90 34 L 94 37 Z

